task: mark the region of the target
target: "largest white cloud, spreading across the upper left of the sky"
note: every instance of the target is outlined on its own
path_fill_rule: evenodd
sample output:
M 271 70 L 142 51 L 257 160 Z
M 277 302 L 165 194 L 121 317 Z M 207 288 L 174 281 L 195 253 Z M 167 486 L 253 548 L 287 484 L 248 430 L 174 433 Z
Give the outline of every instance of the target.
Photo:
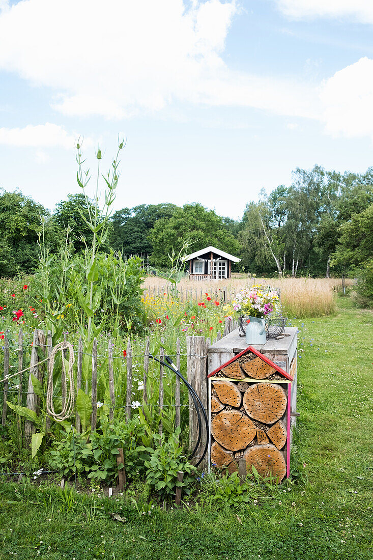
M 0 69 L 54 92 L 65 115 L 110 119 L 171 104 L 315 116 L 306 83 L 232 72 L 235 0 L 29 0 L 0 15 Z

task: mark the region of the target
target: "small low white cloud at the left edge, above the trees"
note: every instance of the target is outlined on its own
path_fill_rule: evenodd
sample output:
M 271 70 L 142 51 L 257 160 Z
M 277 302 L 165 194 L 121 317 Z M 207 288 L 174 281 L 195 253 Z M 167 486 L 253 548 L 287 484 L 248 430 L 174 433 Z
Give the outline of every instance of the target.
M 36 126 L 29 124 L 25 128 L 0 128 L 0 144 L 8 146 L 62 147 L 69 150 L 74 148 L 76 139 L 77 135 L 68 134 L 63 127 L 51 123 Z

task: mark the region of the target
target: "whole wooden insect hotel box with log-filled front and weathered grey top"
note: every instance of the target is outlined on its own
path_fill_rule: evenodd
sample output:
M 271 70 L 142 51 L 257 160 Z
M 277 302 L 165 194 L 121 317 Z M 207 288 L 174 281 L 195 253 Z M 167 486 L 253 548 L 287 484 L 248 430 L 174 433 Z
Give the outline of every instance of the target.
M 268 340 L 261 351 L 249 346 L 237 354 L 234 346 L 244 341 L 236 331 L 209 348 L 210 371 L 222 357 L 233 356 L 208 375 L 209 465 L 231 474 L 244 458 L 246 472 L 254 466 L 263 477 L 271 474 L 281 481 L 289 476 L 291 428 L 297 416 L 297 329 L 286 330 L 291 331 L 288 338 Z

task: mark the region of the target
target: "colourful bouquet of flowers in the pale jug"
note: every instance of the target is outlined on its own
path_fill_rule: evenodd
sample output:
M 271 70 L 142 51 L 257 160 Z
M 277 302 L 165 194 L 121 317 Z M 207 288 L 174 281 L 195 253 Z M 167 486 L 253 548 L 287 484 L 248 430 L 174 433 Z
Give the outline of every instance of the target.
M 240 315 L 265 319 L 270 313 L 279 311 L 280 302 L 276 290 L 258 284 L 236 293 L 232 306 Z

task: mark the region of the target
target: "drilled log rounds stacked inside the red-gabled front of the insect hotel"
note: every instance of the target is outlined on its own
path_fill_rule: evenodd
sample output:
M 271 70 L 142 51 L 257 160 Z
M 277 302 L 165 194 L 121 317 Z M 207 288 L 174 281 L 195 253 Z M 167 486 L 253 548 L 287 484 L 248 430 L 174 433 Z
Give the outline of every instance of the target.
M 244 457 L 263 477 L 286 475 L 288 381 L 246 352 L 211 378 L 211 463 L 230 474 Z M 255 382 L 257 381 L 257 382 Z

